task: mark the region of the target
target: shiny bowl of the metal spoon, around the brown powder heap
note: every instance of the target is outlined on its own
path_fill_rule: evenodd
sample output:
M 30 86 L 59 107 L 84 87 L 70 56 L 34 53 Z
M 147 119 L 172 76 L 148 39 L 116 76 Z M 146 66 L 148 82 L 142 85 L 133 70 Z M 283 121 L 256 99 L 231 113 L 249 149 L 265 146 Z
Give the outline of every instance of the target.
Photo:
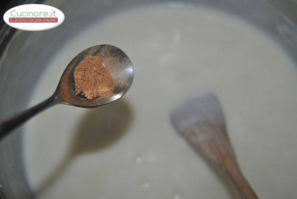
M 102 62 L 108 68 L 114 83 L 114 91 L 111 97 L 87 99 L 75 93 L 73 73 L 78 64 L 87 56 L 101 57 Z M 121 98 L 132 85 L 133 77 L 133 65 L 129 57 L 122 50 L 106 44 L 92 46 L 82 51 L 70 61 L 57 86 L 56 94 L 67 105 L 83 108 L 99 107 Z

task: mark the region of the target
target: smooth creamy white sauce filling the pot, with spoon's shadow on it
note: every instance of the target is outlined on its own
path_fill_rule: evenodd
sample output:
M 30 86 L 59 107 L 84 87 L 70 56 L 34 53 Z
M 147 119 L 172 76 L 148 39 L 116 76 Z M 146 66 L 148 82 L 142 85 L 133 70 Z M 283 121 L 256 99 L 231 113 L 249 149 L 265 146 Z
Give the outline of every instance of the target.
M 124 11 L 59 50 L 31 105 L 52 94 L 75 55 L 98 44 L 131 58 L 133 85 L 106 107 L 58 105 L 27 123 L 27 177 L 40 199 L 230 198 L 169 122 L 175 105 L 200 89 L 218 95 L 240 166 L 259 197 L 297 196 L 297 72 L 265 33 L 209 8 Z

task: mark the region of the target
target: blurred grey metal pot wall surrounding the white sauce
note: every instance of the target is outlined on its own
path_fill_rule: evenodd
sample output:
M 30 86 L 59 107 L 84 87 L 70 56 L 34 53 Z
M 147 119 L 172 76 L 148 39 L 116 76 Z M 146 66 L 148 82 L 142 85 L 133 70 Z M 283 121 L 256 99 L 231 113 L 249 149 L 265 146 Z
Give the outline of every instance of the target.
M 0 119 L 24 110 L 40 74 L 73 36 L 118 10 L 168 0 L 19 0 L 16 5 L 42 3 L 65 14 L 59 27 L 44 31 L 0 29 Z M 169 2 L 169 1 L 168 1 Z M 254 24 L 279 43 L 297 62 L 297 2 L 294 0 L 187 0 L 221 9 Z M 87 23 L 86 23 L 87 22 Z M 22 127 L 0 141 L 0 198 L 27 199 L 33 194 L 23 164 Z

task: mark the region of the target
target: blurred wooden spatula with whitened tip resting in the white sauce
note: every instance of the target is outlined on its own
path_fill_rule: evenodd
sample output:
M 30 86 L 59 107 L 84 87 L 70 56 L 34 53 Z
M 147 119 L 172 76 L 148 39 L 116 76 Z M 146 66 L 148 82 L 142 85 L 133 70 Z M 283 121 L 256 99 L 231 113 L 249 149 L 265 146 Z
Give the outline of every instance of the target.
M 242 199 L 258 199 L 237 163 L 216 96 L 203 93 L 171 114 L 174 128 L 231 182 Z

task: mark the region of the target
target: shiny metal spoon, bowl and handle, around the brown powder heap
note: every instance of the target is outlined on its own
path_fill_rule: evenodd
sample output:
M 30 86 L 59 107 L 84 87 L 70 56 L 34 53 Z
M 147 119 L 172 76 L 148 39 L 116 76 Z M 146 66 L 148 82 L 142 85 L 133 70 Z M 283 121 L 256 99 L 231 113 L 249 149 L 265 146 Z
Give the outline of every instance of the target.
M 74 93 L 73 72 L 76 66 L 87 56 L 99 56 L 108 67 L 114 83 L 113 95 L 109 98 L 88 100 Z M 0 139 L 11 130 L 27 121 L 30 117 L 57 104 L 66 104 L 82 108 L 95 108 L 107 105 L 121 98 L 130 88 L 134 77 L 133 65 L 129 57 L 119 48 L 111 45 L 92 46 L 76 57 L 66 67 L 54 94 L 44 102 L 0 122 Z

